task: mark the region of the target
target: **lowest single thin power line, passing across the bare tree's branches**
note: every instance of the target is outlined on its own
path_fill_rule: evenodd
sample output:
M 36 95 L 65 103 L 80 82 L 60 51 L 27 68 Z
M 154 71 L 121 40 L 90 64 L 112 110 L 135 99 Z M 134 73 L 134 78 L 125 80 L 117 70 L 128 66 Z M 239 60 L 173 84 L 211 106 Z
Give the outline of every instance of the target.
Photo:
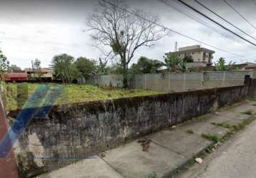
M 159 24 L 159 23 L 156 23 L 156 22 L 154 22 L 154 21 L 151 21 L 151 20 L 149 20 L 149 19 L 146 19 L 146 18 L 144 18 L 143 16 L 139 16 L 138 14 L 134 14 L 134 13 L 132 13 L 131 11 L 128 11 L 127 9 L 123 9 L 123 8 L 121 8 L 121 7 L 119 7 L 119 6 L 115 5 L 115 4 L 112 4 L 112 3 L 109 2 L 109 1 L 106 1 L 106 0 L 102 0 L 102 1 L 104 1 L 105 3 L 107 3 L 107 4 L 111 5 L 111 6 L 114 6 L 115 8 L 117 8 L 117 9 L 119 9 L 119 10 L 121 10 L 121 11 L 125 11 L 125 12 L 127 12 L 128 14 L 131 14 L 131 15 L 133 15 L 133 16 L 137 16 L 138 18 L 143 19 L 144 21 L 149 21 L 150 23 L 153 23 L 153 24 L 155 24 L 155 25 L 157 25 L 157 26 L 160 26 L 160 27 L 164 28 L 165 30 L 172 31 L 173 33 L 176 33 L 176 34 L 178 34 L 178 35 L 180 35 L 180 36 L 184 36 L 184 37 L 186 37 L 186 38 L 189 38 L 189 39 L 192 40 L 192 41 L 197 41 L 197 43 L 202 43 L 202 44 L 205 44 L 206 46 L 210 46 L 210 47 L 215 48 L 215 49 L 217 49 L 217 50 L 219 50 L 219 51 L 222 51 L 222 52 L 225 52 L 225 53 L 230 53 L 230 54 L 232 54 L 233 56 L 238 56 L 238 57 L 242 57 L 242 58 L 251 58 L 251 57 L 241 56 L 241 55 L 239 55 L 239 54 L 232 53 L 232 52 L 230 52 L 230 51 L 225 51 L 225 50 L 223 50 L 222 48 L 218 48 L 218 47 L 216 47 L 216 46 L 212 46 L 212 45 L 210 45 L 210 44 L 208 44 L 208 43 L 205 43 L 205 42 L 203 42 L 203 41 L 197 40 L 197 39 L 192 38 L 192 37 L 190 37 L 190 36 L 184 35 L 183 33 L 180 33 L 180 32 L 178 32 L 178 31 L 174 31 L 174 30 L 172 30 L 171 28 L 168 28 L 168 27 L 163 26 L 163 25 L 161 25 L 161 24 Z M 251 58 L 251 59 L 255 59 L 255 58 Z

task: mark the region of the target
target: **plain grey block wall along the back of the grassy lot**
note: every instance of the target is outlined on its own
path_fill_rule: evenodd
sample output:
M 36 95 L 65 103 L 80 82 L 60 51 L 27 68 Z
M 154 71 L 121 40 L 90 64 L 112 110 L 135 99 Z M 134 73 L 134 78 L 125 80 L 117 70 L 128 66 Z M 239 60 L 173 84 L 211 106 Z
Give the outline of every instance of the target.
M 201 73 L 153 73 L 136 75 L 129 80 L 130 88 L 159 90 L 168 93 L 207 88 L 243 85 L 245 75 L 256 78 L 254 71 L 201 72 Z M 122 86 L 121 75 L 99 75 L 84 81 L 94 85 Z

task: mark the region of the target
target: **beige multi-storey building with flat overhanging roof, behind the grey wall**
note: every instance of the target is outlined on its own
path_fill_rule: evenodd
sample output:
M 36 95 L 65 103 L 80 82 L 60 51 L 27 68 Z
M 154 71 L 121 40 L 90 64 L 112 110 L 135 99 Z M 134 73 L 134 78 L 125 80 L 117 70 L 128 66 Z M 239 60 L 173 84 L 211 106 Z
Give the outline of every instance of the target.
M 188 68 L 195 67 L 205 67 L 212 66 L 212 58 L 215 51 L 207 48 L 202 48 L 200 45 L 195 46 L 185 46 L 179 48 L 179 51 L 169 52 L 177 55 L 179 58 L 184 58 L 185 56 L 191 56 L 193 59 L 192 63 L 187 63 Z

